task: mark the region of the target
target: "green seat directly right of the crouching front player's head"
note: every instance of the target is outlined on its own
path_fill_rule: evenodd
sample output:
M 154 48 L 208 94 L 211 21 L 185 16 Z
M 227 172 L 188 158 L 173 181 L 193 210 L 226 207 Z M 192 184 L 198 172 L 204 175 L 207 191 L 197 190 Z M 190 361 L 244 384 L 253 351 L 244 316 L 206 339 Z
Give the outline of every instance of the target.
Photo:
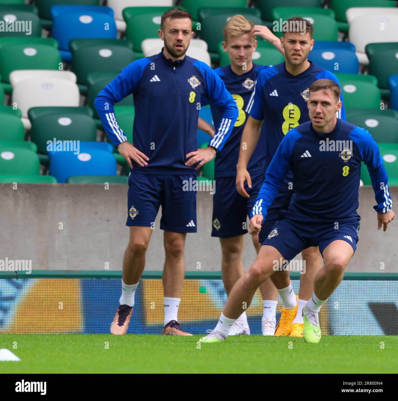
M 380 109 L 380 89 L 373 83 L 345 78 L 339 81 L 346 109 L 350 107 Z

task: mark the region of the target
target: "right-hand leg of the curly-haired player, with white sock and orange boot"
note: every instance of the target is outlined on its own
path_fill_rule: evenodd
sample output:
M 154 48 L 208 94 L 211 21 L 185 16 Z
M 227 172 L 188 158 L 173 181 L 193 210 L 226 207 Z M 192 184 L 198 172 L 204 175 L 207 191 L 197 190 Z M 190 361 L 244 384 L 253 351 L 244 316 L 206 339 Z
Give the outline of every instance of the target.
M 291 325 L 290 336 L 302 337 L 304 330 L 303 308 L 311 298 L 314 291 L 314 279 L 322 267 L 322 256 L 319 247 L 309 247 L 302 251 L 303 260 L 306 261 L 306 271 L 300 274 L 300 292 L 297 313 Z

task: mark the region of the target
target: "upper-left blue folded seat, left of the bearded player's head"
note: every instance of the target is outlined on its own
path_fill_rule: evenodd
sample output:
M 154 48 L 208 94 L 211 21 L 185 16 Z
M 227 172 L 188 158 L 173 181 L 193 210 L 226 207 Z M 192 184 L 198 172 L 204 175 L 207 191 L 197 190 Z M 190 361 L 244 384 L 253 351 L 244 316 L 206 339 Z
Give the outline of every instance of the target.
M 108 24 L 108 25 L 105 25 Z M 109 26 L 109 29 L 104 29 Z M 107 38 L 116 39 L 115 20 L 101 12 L 69 12 L 58 15 L 52 24 L 52 37 L 59 43 L 59 51 L 63 61 L 71 61 L 69 42 L 75 38 Z

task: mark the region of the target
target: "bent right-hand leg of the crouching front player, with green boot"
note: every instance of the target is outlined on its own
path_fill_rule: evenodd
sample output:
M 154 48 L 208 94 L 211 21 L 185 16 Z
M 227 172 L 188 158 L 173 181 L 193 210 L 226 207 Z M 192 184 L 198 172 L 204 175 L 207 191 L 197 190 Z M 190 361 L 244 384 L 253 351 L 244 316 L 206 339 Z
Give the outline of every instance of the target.
M 325 265 L 316 275 L 314 292 L 303 309 L 306 342 L 320 341 L 319 311 L 342 281 L 344 269 L 354 255 L 354 250 L 349 243 L 338 239 L 325 248 L 323 255 Z

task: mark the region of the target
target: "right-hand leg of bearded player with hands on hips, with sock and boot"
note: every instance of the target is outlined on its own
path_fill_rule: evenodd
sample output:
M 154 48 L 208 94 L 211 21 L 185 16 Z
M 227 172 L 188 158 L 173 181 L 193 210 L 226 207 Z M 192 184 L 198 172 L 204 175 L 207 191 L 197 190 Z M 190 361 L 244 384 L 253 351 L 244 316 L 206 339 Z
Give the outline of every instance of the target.
M 185 233 L 165 231 L 163 243 L 166 259 L 163 267 L 163 294 L 164 294 L 164 328 L 162 334 L 177 336 L 191 336 L 181 329 L 177 314 L 184 285 L 185 262 Z

